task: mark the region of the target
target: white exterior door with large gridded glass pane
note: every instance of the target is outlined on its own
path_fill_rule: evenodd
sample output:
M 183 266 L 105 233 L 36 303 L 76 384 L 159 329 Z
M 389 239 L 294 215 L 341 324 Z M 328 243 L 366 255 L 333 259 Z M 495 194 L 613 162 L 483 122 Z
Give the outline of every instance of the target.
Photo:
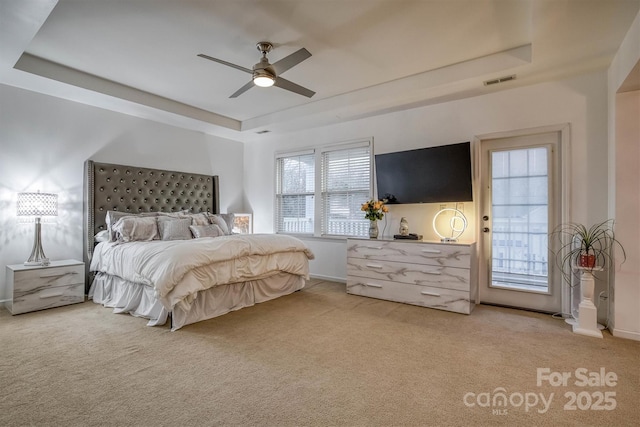
M 549 262 L 559 218 L 558 132 L 481 142 L 482 302 L 560 311 Z

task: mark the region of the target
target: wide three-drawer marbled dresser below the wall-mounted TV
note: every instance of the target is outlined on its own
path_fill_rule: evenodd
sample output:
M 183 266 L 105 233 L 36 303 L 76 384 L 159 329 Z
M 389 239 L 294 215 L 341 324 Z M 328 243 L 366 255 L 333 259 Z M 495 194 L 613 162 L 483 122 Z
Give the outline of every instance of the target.
M 469 314 L 476 244 L 348 239 L 347 293 Z

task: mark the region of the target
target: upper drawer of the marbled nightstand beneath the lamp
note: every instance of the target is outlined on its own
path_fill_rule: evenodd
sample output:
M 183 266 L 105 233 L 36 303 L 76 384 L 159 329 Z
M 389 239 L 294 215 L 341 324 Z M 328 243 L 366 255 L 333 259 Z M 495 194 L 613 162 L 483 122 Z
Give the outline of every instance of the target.
M 13 274 L 15 295 L 39 289 L 84 283 L 83 264 L 15 271 Z

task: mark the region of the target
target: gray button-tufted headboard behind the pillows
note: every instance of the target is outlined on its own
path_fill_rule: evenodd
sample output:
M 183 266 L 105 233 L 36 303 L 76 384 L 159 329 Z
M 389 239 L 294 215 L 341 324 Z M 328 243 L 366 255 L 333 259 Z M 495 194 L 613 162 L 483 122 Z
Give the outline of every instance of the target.
M 88 272 L 94 236 L 107 229 L 107 211 L 220 213 L 218 176 L 96 163 L 84 167 L 84 261 Z M 89 281 L 87 281 L 89 286 Z

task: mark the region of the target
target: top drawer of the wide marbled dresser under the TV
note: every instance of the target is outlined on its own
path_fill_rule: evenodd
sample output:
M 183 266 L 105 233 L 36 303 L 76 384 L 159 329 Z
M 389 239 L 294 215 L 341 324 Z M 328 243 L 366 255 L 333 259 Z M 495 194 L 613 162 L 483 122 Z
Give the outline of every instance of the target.
M 349 239 L 347 257 L 469 268 L 471 248 L 460 244 Z

